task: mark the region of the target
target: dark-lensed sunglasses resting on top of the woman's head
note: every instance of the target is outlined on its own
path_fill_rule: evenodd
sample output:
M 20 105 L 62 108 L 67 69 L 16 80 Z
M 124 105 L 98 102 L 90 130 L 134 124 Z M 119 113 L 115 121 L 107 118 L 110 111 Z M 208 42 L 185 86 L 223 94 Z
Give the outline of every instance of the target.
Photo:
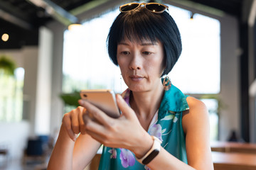
M 166 9 L 169 11 L 169 7 L 159 3 L 129 3 L 119 7 L 121 12 L 128 12 L 139 8 L 140 6 L 146 8 L 153 13 L 163 13 Z

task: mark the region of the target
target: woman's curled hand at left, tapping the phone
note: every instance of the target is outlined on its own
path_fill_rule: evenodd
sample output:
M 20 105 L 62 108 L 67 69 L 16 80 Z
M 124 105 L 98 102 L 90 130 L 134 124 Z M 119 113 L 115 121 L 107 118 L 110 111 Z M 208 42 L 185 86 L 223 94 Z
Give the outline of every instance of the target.
M 63 116 L 63 126 L 68 132 L 68 136 L 75 142 L 77 135 L 80 133 L 85 135 L 85 123 L 82 120 L 82 115 L 85 114 L 86 109 L 82 106 L 73 109 Z

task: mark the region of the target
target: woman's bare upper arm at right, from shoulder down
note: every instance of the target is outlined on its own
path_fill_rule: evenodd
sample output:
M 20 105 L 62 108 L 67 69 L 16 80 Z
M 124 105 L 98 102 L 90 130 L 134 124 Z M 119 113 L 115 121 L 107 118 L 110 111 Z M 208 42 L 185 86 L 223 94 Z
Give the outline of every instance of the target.
M 183 116 L 188 164 L 196 169 L 213 169 L 208 111 L 202 101 L 188 97 L 189 113 Z

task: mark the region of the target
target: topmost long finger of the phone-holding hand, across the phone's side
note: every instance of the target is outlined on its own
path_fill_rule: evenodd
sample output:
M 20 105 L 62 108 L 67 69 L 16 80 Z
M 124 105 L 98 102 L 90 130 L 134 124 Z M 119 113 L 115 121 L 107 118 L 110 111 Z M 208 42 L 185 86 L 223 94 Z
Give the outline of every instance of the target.
M 101 123 L 102 125 L 110 125 L 113 118 L 110 118 L 106 113 L 102 112 L 99 108 L 92 105 L 91 103 L 87 101 L 80 100 L 79 103 L 81 106 L 84 106 L 90 116 L 92 116 L 91 119 L 95 119 L 97 122 Z

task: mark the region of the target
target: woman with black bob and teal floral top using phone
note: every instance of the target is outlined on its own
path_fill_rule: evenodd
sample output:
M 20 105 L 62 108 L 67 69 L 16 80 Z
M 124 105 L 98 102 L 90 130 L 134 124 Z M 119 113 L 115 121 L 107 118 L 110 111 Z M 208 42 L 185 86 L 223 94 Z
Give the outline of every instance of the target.
M 206 106 L 161 78 L 181 54 L 167 10 L 156 3 L 120 6 L 108 52 L 129 88 L 116 95 L 122 115 L 110 118 L 79 101 L 63 117 L 48 169 L 84 169 L 102 144 L 99 169 L 213 169 Z

